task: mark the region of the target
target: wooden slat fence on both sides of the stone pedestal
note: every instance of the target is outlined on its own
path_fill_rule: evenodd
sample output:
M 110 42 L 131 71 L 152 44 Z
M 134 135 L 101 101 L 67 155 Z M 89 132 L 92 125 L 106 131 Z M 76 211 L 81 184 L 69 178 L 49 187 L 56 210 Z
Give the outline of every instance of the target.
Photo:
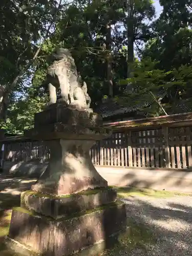
M 90 150 L 95 165 L 186 169 L 192 167 L 192 126 L 125 130 L 98 141 Z M 40 141 L 5 142 L 5 161 L 48 162 Z

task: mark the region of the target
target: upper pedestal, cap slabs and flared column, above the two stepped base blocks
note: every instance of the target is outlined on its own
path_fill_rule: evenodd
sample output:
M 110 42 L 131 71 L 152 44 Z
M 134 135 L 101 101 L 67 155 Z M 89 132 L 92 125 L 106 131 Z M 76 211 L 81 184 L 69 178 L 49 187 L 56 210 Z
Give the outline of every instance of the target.
M 90 148 L 96 140 L 110 134 L 100 125 L 100 115 L 61 103 L 37 113 L 35 127 L 26 136 L 44 140 L 50 149 L 50 161 L 32 190 L 61 196 L 108 186 L 90 158 Z

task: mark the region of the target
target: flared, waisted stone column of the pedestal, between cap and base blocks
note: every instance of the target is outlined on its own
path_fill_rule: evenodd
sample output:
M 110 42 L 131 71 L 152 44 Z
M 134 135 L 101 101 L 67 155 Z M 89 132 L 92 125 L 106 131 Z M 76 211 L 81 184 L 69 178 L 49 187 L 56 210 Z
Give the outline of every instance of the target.
M 46 141 L 50 148 L 49 165 L 32 189 L 60 196 L 106 187 L 107 182 L 98 174 L 89 155 L 94 142 L 75 138 Z

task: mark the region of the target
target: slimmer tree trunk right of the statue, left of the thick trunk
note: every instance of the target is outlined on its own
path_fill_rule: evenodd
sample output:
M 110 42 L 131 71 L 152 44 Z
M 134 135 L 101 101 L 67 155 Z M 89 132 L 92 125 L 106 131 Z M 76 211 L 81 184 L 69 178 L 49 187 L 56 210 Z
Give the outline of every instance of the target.
M 112 69 L 112 62 L 113 62 L 113 55 L 111 49 L 111 25 L 106 25 L 106 61 L 107 61 L 107 71 L 106 71 L 106 79 L 109 85 L 109 98 L 113 98 L 113 69 Z

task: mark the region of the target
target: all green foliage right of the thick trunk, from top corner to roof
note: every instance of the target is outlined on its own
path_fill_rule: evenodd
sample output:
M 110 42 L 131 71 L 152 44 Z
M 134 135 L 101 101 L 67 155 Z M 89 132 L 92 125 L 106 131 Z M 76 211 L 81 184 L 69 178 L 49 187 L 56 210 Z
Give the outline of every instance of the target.
M 134 91 L 129 90 L 117 99 L 123 105 L 128 102 L 131 105 L 135 102 L 147 105 L 143 111 L 157 116 L 165 112 L 175 114 L 192 110 L 192 1 L 162 0 L 160 4 L 163 11 L 151 25 L 152 37 L 146 41 L 140 55 L 141 66 L 134 67 L 134 77 L 131 80 L 121 81 L 123 84 L 132 82 Z M 145 64 L 143 66 L 146 59 L 151 59 L 151 67 Z

